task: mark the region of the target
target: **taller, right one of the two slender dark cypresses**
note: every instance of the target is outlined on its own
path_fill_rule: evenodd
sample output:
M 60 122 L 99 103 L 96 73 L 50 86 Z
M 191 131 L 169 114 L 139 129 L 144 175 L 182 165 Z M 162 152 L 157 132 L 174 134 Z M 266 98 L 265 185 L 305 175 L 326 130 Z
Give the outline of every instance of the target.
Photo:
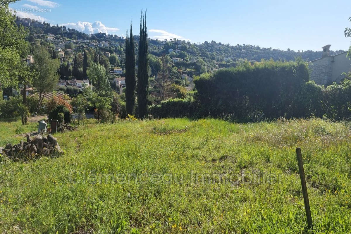
M 148 89 L 149 89 L 149 77 L 148 77 L 148 58 L 147 58 L 147 27 L 146 27 L 146 12 L 145 19 L 144 13 L 140 13 L 140 37 L 139 37 L 139 53 L 138 53 L 138 113 L 139 118 L 144 119 L 147 112 L 148 102 Z

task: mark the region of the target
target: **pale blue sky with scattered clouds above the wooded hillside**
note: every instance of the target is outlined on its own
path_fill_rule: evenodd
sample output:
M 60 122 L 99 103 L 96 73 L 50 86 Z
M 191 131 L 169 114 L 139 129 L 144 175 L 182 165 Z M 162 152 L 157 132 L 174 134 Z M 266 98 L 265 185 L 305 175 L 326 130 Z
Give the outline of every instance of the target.
M 125 35 L 132 20 L 139 33 L 147 9 L 148 36 L 294 51 L 347 50 L 351 39 L 350 0 L 21 0 L 10 4 L 23 18 L 65 25 L 85 33 Z

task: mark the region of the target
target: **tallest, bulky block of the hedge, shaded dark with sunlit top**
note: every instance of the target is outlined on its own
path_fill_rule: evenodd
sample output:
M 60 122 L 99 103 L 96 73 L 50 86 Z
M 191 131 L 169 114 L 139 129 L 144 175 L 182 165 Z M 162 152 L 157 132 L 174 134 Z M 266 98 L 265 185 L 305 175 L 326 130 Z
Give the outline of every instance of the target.
M 254 65 L 246 61 L 243 66 L 203 74 L 194 80 L 197 98 L 207 113 L 230 114 L 241 121 L 250 120 L 257 110 L 266 118 L 294 117 L 296 95 L 307 81 L 306 63 L 272 60 Z

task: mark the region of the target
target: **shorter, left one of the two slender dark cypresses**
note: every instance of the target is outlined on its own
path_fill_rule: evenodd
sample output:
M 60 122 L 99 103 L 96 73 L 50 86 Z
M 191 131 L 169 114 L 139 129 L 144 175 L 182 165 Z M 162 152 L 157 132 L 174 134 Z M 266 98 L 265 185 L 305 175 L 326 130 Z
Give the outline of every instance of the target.
M 132 21 L 131 21 L 131 31 L 130 36 L 126 35 L 126 109 L 127 114 L 133 115 L 134 105 L 135 105 L 135 86 L 137 81 L 135 79 L 135 51 L 134 51 L 134 40 L 132 31 Z

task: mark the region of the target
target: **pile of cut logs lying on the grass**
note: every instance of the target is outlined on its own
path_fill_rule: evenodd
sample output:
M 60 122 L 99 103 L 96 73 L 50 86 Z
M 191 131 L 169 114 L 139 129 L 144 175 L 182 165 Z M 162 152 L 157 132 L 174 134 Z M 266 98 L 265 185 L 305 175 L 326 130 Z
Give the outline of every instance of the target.
M 48 136 L 35 135 L 33 139 L 27 134 L 27 141 L 17 145 L 8 143 L 2 151 L 12 159 L 38 158 L 41 156 L 59 156 L 63 153 L 57 139 L 51 134 Z

